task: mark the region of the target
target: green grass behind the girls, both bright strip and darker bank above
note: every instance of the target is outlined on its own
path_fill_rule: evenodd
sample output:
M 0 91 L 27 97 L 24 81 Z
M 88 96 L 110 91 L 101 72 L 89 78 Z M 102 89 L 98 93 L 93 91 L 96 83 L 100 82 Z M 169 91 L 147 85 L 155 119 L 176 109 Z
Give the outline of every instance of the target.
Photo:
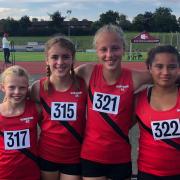
M 161 44 L 172 44 L 177 46 L 177 36 L 180 36 L 180 33 L 150 33 L 152 36 L 160 38 Z M 126 51 L 129 51 L 130 41 L 133 37 L 139 35 L 139 32 L 125 32 L 126 37 Z M 50 37 L 48 36 L 33 36 L 33 37 L 10 37 L 10 40 L 13 40 L 16 45 L 27 45 L 28 42 L 38 42 L 39 44 L 44 44 Z M 76 44 L 76 53 L 77 61 L 96 61 L 97 57 L 95 53 L 85 52 L 87 49 L 92 49 L 93 36 L 71 36 L 72 41 Z M 180 39 L 180 38 L 179 38 Z M 133 57 L 136 57 L 136 51 L 141 51 L 142 57 L 140 59 L 134 58 L 132 61 L 143 61 L 146 59 L 146 53 L 149 49 L 156 46 L 154 43 L 140 43 L 133 44 Z M 178 46 L 180 46 L 178 44 Z M 180 47 L 178 47 L 180 49 Z M 43 52 L 16 52 L 16 61 L 43 61 L 44 54 Z M 123 57 L 124 61 L 129 61 L 129 54 L 126 53 Z M 2 61 L 3 53 L 0 52 L 0 60 Z

